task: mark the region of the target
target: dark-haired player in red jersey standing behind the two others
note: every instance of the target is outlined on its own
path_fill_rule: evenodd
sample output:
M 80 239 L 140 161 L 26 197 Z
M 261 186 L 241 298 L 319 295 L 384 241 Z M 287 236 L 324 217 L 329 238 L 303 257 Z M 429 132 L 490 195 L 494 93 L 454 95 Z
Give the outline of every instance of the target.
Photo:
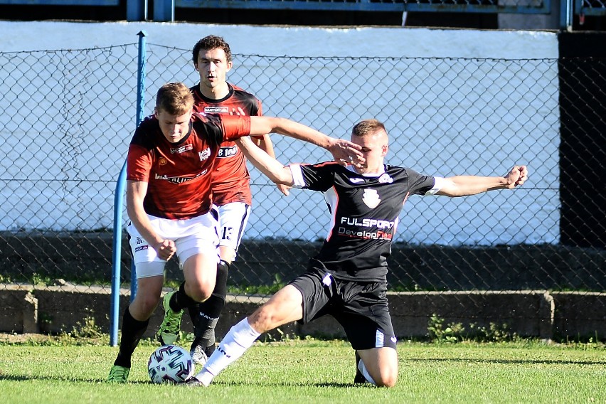
M 250 92 L 230 84 L 227 73 L 233 67 L 230 46 L 220 36 L 209 35 L 193 46 L 193 67 L 200 82 L 191 87 L 193 110 L 205 114 L 262 116 L 262 105 Z M 255 144 L 270 156 L 274 150 L 269 134 L 253 137 Z M 213 178 L 213 203 L 219 213 L 219 255 L 215 290 L 205 302 L 191 306 L 194 336 L 190 353 L 193 361 L 204 364 L 215 350 L 215 326 L 225 307 L 228 270 L 235 260 L 244 229 L 250 216 L 252 195 L 250 174 L 244 154 L 235 142 L 220 145 Z M 288 195 L 286 186 L 278 186 Z

